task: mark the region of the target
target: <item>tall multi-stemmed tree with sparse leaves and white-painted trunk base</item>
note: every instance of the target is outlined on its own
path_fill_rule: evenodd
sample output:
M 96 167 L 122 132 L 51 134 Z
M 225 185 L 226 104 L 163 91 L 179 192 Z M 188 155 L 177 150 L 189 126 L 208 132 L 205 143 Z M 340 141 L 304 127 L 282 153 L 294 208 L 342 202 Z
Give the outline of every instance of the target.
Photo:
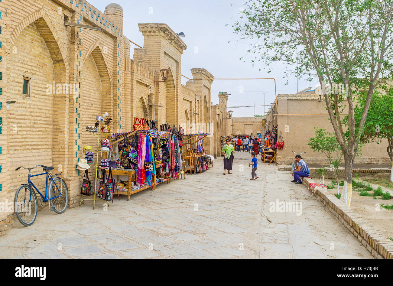
M 341 200 L 348 206 L 359 146 L 355 127 L 362 134 L 373 92 L 393 72 L 392 11 L 393 0 L 249 0 L 233 24 L 242 40 L 255 40 L 248 50 L 253 65 L 261 62 L 270 72 L 275 62 L 285 62 L 296 66 L 288 68 L 286 76 L 318 78 L 343 151 Z M 356 122 L 354 100 L 361 91 L 366 92 L 365 104 Z M 344 105 L 349 113 L 347 138 L 340 115 Z

